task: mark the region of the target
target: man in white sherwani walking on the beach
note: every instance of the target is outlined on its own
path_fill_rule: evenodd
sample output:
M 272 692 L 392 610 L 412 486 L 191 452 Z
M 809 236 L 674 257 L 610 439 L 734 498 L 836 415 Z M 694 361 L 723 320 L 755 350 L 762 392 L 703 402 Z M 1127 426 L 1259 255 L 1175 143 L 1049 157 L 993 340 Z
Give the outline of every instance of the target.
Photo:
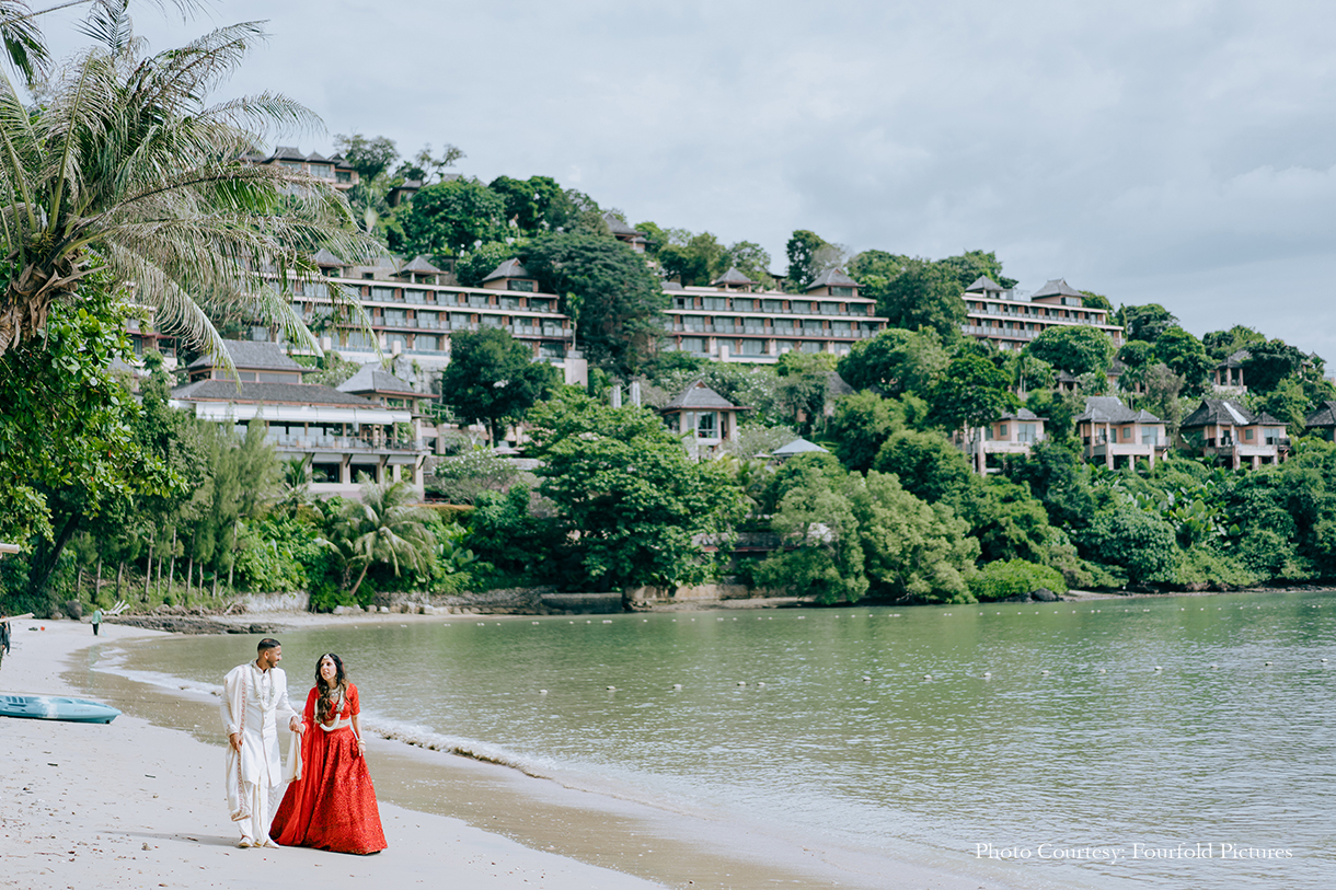
M 259 641 L 254 661 L 223 679 L 223 726 L 227 731 L 227 808 L 242 830 L 242 847 L 275 847 L 269 838 L 285 776 L 279 762 L 278 720 L 302 731 L 302 720 L 287 700 L 287 675 L 278 667 L 283 647 Z

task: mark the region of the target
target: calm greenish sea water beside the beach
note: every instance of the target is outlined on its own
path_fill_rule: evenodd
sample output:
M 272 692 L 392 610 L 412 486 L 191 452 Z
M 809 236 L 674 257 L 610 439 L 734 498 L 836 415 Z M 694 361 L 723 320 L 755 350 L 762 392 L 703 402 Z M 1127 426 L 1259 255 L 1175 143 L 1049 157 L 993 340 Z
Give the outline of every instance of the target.
M 282 639 L 298 698 L 335 651 L 381 731 L 776 834 L 1010 857 L 1002 875 L 1055 886 L 1325 889 L 1336 874 L 1324 593 Z M 216 687 L 247 647 L 163 640 L 135 649 L 135 674 Z

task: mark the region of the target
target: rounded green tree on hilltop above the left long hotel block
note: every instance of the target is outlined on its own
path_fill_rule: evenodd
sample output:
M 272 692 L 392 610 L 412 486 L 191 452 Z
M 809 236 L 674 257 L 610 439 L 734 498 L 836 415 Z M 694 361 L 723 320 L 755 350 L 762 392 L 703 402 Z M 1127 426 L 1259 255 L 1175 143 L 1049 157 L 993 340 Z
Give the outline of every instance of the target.
M 502 241 L 505 199 L 477 179 L 450 179 L 418 190 L 399 214 L 410 254 L 449 257 Z

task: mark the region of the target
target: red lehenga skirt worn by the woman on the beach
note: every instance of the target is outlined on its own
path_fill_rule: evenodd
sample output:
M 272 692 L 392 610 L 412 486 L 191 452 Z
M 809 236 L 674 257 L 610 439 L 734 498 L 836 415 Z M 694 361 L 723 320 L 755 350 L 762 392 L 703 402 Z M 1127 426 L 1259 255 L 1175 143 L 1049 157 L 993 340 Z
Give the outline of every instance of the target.
M 270 837 L 285 847 L 379 853 L 386 846 L 381 811 L 353 730 L 306 727 L 302 778 L 287 786 Z

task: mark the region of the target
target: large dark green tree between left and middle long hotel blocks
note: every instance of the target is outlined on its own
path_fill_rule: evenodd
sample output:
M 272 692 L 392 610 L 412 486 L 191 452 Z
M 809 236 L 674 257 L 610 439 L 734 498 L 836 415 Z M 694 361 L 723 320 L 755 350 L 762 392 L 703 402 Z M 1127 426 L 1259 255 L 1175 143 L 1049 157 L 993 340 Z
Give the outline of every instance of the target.
M 611 238 L 549 234 L 529 243 L 524 263 L 545 291 L 564 294 L 566 314 L 577 305 L 577 341 L 592 366 L 627 377 L 645 365 L 668 297 L 639 254 Z

